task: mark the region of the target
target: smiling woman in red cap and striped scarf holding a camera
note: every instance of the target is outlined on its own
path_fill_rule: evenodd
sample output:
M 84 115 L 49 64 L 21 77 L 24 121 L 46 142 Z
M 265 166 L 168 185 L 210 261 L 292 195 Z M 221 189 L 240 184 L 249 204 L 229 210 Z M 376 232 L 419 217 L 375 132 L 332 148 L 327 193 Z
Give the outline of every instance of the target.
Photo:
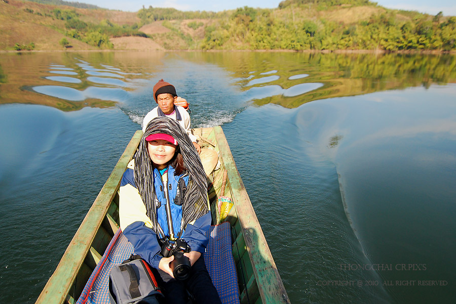
M 197 303 L 221 303 L 204 264 L 211 224 L 207 181 L 192 141 L 178 122 L 157 117 L 142 136 L 119 190 L 121 229 L 135 252 L 158 270 L 169 303 L 185 303 L 187 289 Z M 174 255 L 161 254 L 163 244 L 181 239 L 189 246 L 191 269 L 174 278 Z

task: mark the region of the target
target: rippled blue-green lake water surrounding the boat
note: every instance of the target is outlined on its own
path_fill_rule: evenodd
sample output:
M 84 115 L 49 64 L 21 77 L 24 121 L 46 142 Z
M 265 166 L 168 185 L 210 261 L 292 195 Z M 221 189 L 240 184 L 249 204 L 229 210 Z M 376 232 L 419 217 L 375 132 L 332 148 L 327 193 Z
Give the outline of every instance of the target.
M 292 303 L 453 303 L 456 57 L 0 54 L 0 303 L 33 303 L 144 115 L 222 125 Z

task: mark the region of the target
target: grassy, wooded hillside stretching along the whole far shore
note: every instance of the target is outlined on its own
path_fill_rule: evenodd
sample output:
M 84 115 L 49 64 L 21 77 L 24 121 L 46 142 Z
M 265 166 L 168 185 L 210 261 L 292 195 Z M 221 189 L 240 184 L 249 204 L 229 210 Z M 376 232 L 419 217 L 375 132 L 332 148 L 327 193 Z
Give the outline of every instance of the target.
M 390 10 L 367 0 L 286 0 L 277 9 L 219 13 L 2 0 L 0 24 L 0 50 L 7 51 L 456 50 L 456 17 Z

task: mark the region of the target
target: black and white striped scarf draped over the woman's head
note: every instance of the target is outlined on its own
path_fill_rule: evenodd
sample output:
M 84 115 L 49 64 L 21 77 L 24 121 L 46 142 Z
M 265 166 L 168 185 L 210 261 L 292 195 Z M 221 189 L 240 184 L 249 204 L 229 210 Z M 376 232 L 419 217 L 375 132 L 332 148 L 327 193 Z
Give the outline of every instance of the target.
M 147 150 L 145 140 L 151 134 L 164 133 L 171 135 L 179 144 L 180 153 L 190 176 L 189 184 L 182 204 L 182 223 L 184 229 L 188 223 L 197 220 L 209 211 L 207 196 L 207 179 L 195 146 L 188 138 L 180 124 L 168 117 L 156 117 L 146 127 L 135 155 L 135 183 L 139 194 L 146 206 L 147 215 L 152 221 L 154 231 L 159 234 L 157 227 L 157 207 L 154 202 L 154 166 Z

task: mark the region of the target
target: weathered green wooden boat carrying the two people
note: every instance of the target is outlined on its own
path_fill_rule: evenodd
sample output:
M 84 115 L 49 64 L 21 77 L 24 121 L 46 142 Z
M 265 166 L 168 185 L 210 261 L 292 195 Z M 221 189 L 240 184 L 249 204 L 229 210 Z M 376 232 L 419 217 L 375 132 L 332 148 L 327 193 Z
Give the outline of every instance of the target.
M 214 210 L 222 188 L 224 195 L 231 197 L 234 202 L 234 207 L 222 221 L 230 222 L 232 227 L 233 256 L 238 272 L 241 303 L 289 303 L 222 128 L 198 128 L 194 133 L 203 139 L 203 145 L 210 146 L 219 155 L 220 167 L 208 178 L 212 185 L 208 195 L 213 222 L 220 222 Z M 112 236 L 119 229 L 118 189 L 141 137 L 142 131 L 136 131 L 36 304 L 73 304 L 78 300 Z M 226 183 L 222 187 L 223 176 Z

